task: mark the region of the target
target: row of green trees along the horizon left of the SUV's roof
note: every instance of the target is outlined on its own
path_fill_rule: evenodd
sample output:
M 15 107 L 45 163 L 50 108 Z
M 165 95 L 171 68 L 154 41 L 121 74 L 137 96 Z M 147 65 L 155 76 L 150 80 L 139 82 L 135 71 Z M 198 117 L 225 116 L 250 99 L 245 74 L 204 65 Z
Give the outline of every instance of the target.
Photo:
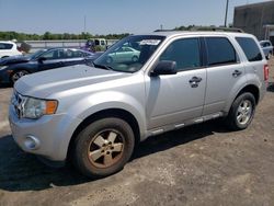
M 54 39 L 88 39 L 88 38 L 106 38 L 106 39 L 121 39 L 128 36 L 128 33 L 123 34 L 107 34 L 107 35 L 92 35 L 90 33 L 82 32 L 81 34 L 55 34 L 50 32 L 45 32 L 42 35 L 38 34 L 26 34 L 18 32 L 0 32 L 0 41 L 12 41 L 18 42 L 23 41 L 54 41 Z

